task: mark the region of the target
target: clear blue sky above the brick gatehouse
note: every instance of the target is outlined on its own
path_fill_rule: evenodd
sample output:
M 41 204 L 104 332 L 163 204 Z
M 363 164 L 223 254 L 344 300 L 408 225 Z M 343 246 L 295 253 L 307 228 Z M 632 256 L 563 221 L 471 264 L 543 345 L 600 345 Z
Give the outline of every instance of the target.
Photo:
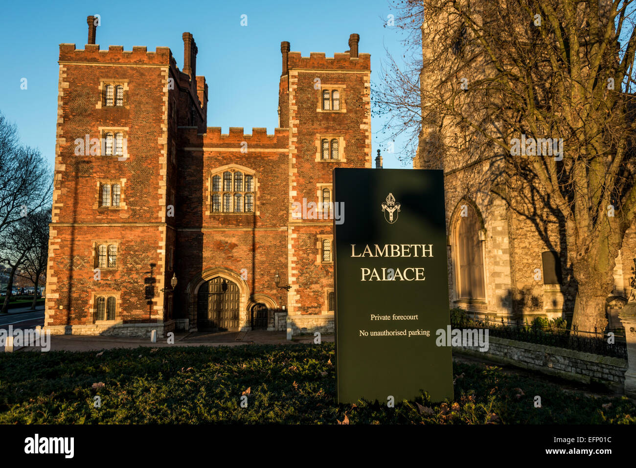
M 63 6 L 62 6 L 63 5 Z M 388 0 L 309 1 L 29 1 L 4 3 L 0 28 L 0 111 L 16 123 L 22 142 L 39 148 L 53 167 L 59 44 L 75 43 L 83 49 L 86 17 L 99 14 L 97 43 L 109 45 L 168 46 L 183 68 L 184 31 L 197 41 L 197 74 L 209 85 L 209 127 L 266 127 L 278 125 L 280 42 L 291 50 L 334 52 L 349 49 L 349 34 L 360 34 L 359 52 L 371 53 L 371 81 L 380 79 L 385 47 L 401 57 L 401 33 L 384 27 L 391 11 Z M 247 27 L 240 25 L 247 15 Z M 27 89 L 21 90 L 22 78 Z M 219 90 L 219 92 L 212 92 Z M 385 152 L 382 120 L 373 118 L 373 155 L 382 149 L 384 167 L 410 168 Z M 396 152 L 400 142 L 396 141 Z

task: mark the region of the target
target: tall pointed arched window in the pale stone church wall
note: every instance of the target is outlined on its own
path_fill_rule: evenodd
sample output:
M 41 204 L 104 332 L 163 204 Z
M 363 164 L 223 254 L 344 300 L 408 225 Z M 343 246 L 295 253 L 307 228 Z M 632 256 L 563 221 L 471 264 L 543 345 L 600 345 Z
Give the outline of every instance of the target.
M 466 214 L 467 216 L 461 216 Z M 457 292 L 460 299 L 485 299 L 480 221 L 470 205 L 459 215 L 457 246 Z

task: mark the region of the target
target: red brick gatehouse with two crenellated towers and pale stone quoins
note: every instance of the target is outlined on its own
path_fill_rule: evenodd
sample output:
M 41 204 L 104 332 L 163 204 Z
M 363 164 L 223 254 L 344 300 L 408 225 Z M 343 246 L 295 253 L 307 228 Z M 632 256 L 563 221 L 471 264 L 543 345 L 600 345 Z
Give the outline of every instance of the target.
M 293 207 L 333 202 L 334 167 L 371 167 L 359 36 L 333 58 L 283 42 L 280 128 L 221 134 L 190 33 L 180 70 L 167 47 L 100 50 L 88 27 L 84 50 L 60 45 L 45 327 L 333 330 L 333 219 Z

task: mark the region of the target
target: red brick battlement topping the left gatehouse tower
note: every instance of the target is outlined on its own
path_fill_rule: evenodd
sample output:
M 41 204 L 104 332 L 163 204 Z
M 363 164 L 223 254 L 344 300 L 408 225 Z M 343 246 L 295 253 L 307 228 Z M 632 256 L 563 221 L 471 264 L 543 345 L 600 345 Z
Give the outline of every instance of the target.
M 157 47 L 155 52 L 148 52 L 144 46 L 133 46 L 132 50 L 108 46 L 108 50 L 100 50 L 99 44 L 86 44 L 84 49 L 76 49 L 74 44 L 60 44 L 60 62 L 176 65 L 169 47 Z

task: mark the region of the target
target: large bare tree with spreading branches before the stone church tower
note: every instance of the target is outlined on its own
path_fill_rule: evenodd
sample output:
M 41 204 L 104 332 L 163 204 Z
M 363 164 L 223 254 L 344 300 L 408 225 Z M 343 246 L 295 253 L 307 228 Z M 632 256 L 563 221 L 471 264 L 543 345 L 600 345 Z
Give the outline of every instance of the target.
M 604 329 L 616 257 L 636 215 L 633 0 L 397 7 L 407 45 L 421 34 L 417 166 L 488 165 L 490 189 L 540 234 L 542 218 L 559 224 L 577 284 L 572 324 Z M 382 86 L 377 106 L 413 92 L 395 85 Z M 409 131 L 404 122 L 394 131 Z

